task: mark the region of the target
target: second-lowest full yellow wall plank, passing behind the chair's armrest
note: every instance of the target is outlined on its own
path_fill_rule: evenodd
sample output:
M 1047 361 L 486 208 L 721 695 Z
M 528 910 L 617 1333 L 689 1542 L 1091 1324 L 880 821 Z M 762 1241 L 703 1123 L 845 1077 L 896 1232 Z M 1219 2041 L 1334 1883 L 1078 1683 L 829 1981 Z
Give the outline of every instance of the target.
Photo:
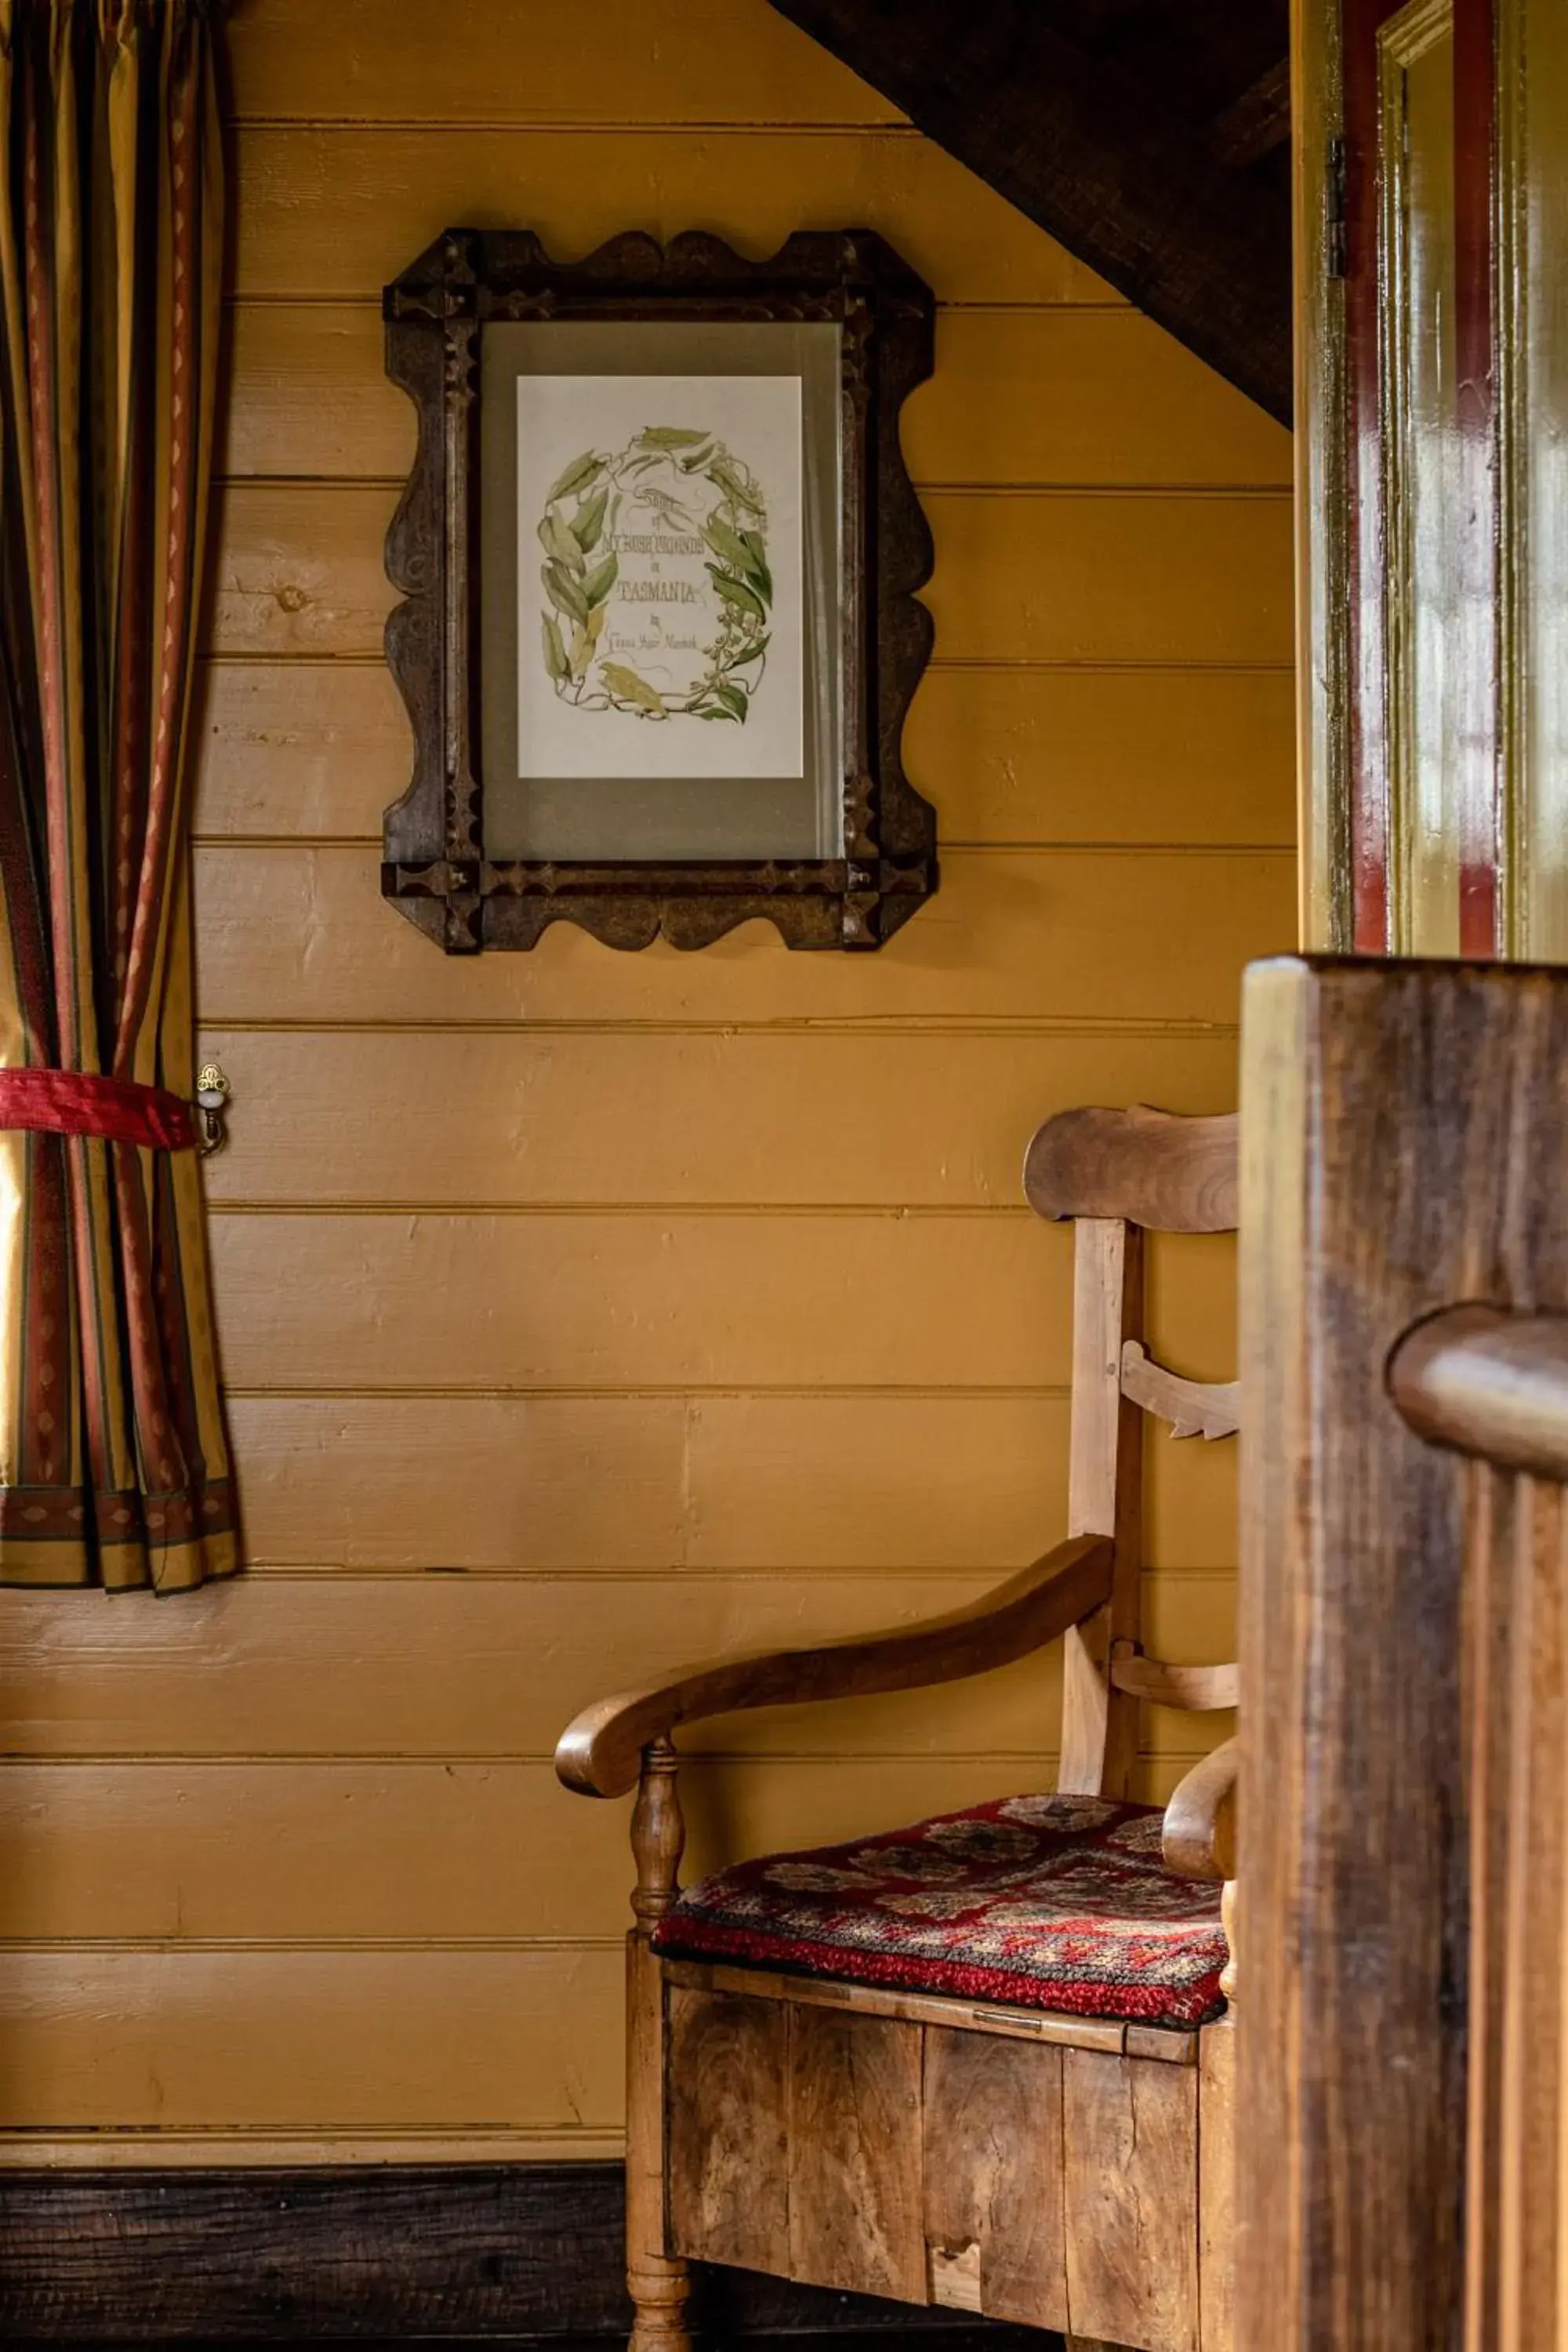
M 1192 1722 L 1201 1755 L 1225 1719 Z M 686 1877 L 1051 1788 L 1053 1773 L 1044 1738 L 1027 1757 L 698 1759 L 682 1776 Z M 550 1764 L 9 1764 L 0 1936 L 609 1943 L 630 1924 L 625 1839 L 628 1806 L 567 1795 Z

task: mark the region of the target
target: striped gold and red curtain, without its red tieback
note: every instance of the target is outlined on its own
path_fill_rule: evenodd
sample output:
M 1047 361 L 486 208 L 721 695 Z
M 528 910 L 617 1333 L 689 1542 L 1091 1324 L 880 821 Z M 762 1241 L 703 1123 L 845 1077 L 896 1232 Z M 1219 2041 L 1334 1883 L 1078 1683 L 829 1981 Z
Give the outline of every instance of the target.
M 0 0 L 0 1075 L 183 1098 L 214 14 Z M 172 1592 L 237 1564 L 195 1152 L 9 1127 L 0 1583 Z

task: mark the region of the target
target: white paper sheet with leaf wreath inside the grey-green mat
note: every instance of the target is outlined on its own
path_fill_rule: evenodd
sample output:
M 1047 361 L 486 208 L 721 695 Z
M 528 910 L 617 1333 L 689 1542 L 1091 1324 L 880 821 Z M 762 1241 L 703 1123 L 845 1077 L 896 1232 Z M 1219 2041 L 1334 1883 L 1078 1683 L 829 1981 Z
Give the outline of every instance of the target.
M 799 376 L 517 379 L 520 776 L 799 776 Z

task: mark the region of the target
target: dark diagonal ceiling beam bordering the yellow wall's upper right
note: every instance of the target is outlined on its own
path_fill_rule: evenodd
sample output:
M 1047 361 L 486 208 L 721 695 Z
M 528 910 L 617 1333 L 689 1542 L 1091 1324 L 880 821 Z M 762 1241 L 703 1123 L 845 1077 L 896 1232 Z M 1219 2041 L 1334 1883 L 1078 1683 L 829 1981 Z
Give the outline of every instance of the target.
M 1034 0 L 771 0 L 853 73 L 1291 421 L 1291 207 Z

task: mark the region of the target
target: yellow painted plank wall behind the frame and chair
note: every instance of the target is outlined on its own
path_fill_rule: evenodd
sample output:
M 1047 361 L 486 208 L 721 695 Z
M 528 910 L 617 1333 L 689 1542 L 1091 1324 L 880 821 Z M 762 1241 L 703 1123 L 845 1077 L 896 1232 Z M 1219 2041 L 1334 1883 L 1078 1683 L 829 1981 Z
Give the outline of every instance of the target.
M 233 106 L 197 889 L 254 1569 L 2 1597 L 0 2154 L 611 2152 L 625 1806 L 550 1745 L 1060 1534 L 1070 1240 L 1018 1162 L 1079 1101 L 1234 1101 L 1241 964 L 1293 936 L 1288 442 L 764 0 L 252 0 Z M 884 955 L 447 962 L 381 903 L 378 289 L 451 221 L 870 223 L 931 278 L 945 884 Z M 1152 1294 L 1225 1376 L 1229 1244 Z M 1150 1479 L 1150 1637 L 1225 1656 L 1234 1461 L 1157 1437 Z M 693 1863 L 1041 1785 L 1056 1693 L 717 1724 Z M 1147 1792 L 1211 1736 L 1152 1712 Z

